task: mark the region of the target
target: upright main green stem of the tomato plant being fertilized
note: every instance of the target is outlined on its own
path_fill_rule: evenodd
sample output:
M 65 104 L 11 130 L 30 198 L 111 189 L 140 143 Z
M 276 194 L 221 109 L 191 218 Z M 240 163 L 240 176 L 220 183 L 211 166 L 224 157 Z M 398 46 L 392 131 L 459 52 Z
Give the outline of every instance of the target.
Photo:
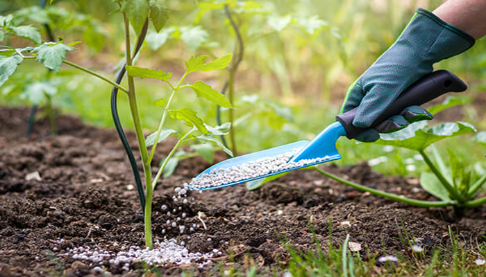
M 126 65 L 132 65 L 131 57 L 131 45 L 130 45 L 130 25 L 126 14 L 123 13 L 123 20 L 125 25 L 125 47 L 126 47 Z M 140 148 L 140 156 L 142 157 L 142 163 L 144 165 L 145 175 L 145 211 L 144 211 L 144 225 L 145 225 L 145 246 L 150 249 L 153 248 L 152 240 L 152 171 L 150 167 L 149 153 L 146 150 L 145 136 L 142 129 L 142 123 L 140 122 L 140 113 L 138 111 L 137 94 L 135 93 L 135 82 L 133 77 L 128 75 L 128 103 L 130 104 L 130 112 L 133 119 L 133 125 L 135 126 L 135 134 L 137 135 L 137 143 Z

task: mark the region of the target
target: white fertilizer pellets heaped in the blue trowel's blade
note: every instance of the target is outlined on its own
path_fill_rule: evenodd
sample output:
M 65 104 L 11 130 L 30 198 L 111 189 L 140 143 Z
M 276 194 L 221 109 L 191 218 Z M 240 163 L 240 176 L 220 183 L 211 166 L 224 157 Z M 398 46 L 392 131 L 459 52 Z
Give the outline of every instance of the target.
M 292 168 L 302 168 L 313 163 L 320 163 L 329 158 L 322 157 L 316 159 L 303 159 L 298 162 L 288 162 L 294 154 L 297 154 L 301 148 L 296 148 L 292 152 L 277 155 L 275 157 L 267 157 L 258 159 L 256 161 L 249 161 L 231 168 L 214 169 L 209 173 L 204 173 L 201 177 L 192 179 L 188 188 L 191 190 L 200 190 L 205 188 L 213 188 L 224 186 L 226 184 L 242 182 L 246 180 L 255 179 L 272 173 L 278 173 Z

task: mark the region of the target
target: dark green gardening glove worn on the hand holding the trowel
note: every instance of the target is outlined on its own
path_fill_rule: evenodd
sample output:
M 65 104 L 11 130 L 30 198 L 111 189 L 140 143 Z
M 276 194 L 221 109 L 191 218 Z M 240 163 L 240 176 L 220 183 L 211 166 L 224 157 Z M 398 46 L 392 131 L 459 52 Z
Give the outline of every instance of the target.
M 353 125 L 369 127 L 410 84 L 433 71 L 433 64 L 458 55 L 474 45 L 474 38 L 419 8 L 399 39 L 348 89 L 341 112 L 358 107 Z M 376 141 L 379 133 L 394 132 L 432 115 L 419 106 L 404 109 L 355 139 Z

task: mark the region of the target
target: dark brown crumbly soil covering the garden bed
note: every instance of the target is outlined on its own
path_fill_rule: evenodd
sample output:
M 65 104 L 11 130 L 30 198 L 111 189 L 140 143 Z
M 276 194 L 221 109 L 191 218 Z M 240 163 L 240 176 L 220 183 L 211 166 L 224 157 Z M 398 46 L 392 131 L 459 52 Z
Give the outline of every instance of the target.
M 47 120 L 41 119 L 31 139 L 26 139 L 27 115 L 26 108 L 0 107 L 0 276 L 97 275 L 92 270 L 96 265 L 65 256 L 67 249 L 86 245 L 110 251 L 119 250 L 121 245 L 142 247 L 140 205 L 115 130 L 60 116 L 58 136 L 50 136 Z M 134 134 L 129 132 L 128 136 L 136 145 Z M 167 140 L 158 146 L 154 172 L 173 144 Z M 138 155 L 138 150 L 133 150 Z M 220 161 L 225 156 L 217 153 L 216 158 Z M 190 233 L 191 239 L 185 240 L 187 249 L 201 253 L 219 249 L 222 255 L 202 269 L 166 265 L 158 269 L 162 275 L 178 275 L 184 270 L 208 276 L 218 270 L 217 266 L 244 267 L 249 262 L 271 271 L 285 265 L 289 258 L 280 238 L 286 236 L 303 251 L 314 249 L 308 220 L 319 240 L 330 239 L 336 247 L 349 233 L 351 242 L 362 245 L 363 258 L 410 256 L 407 235 L 428 249 L 448 247 L 449 226 L 466 249 L 486 238 L 486 207 L 467 211 L 466 217 L 458 220 L 450 208 L 396 204 L 313 170 L 292 172 L 255 191 L 239 185 L 201 194 L 189 192 L 188 198 L 194 200 L 174 202 L 174 188 L 208 166 L 201 157 L 185 159 L 174 175 L 159 181 L 153 200 L 153 233 L 156 240 L 185 240 L 187 234 L 180 235 L 178 228 L 165 224 L 174 220 L 174 215 L 169 217 L 161 209 L 162 204 L 170 210 L 182 206 L 177 215 L 187 213 L 182 219 L 186 226 L 201 223 L 198 214 L 207 226 Z M 419 187 L 417 179 L 385 177 L 367 163 L 321 168 L 371 188 L 433 199 Z M 31 172 L 38 172 L 40 180 L 27 181 L 26 175 Z M 162 234 L 162 229 L 167 233 Z M 327 243 L 322 245 L 327 247 Z M 143 274 L 137 265 L 130 271 L 106 269 L 113 275 Z

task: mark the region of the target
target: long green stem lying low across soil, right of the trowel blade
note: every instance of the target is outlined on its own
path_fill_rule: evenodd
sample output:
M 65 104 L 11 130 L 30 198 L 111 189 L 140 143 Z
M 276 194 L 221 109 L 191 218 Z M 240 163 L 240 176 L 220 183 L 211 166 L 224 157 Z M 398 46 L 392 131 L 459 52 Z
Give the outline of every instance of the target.
M 329 172 L 326 172 L 324 170 L 317 168 L 317 166 L 311 166 L 310 169 L 316 170 L 317 172 L 321 173 L 321 175 L 324 175 L 326 177 L 329 177 L 330 179 L 338 181 L 341 184 L 344 184 L 346 186 L 351 186 L 351 188 L 355 188 L 357 190 L 367 191 L 368 193 L 371 193 L 372 195 L 385 197 L 387 199 L 392 199 L 396 202 L 402 202 L 402 203 L 409 204 L 409 205 L 412 205 L 412 206 L 417 206 L 417 207 L 445 207 L 445 206 L 450 206 L 452 204 L 451 202 L 447 202 L 447 201 L 416 200 L 416 199 L 411 199 L 411 198 L 408 198 L 408 197 L 402 197 L 400 195 L 395 195 L 393 193 L 385 193 L 384 191 L 381 191 L 381 190 L 375 190 L 374 188 L 368 188 L 367 186 L 362 186 L 360 184 L 356 184 L 356 183 L 353 183 L 351 181 L 346 181 L 346 180 L 344 180 L 340 177 L 337 177 L 335 175 L 330 174 Z

